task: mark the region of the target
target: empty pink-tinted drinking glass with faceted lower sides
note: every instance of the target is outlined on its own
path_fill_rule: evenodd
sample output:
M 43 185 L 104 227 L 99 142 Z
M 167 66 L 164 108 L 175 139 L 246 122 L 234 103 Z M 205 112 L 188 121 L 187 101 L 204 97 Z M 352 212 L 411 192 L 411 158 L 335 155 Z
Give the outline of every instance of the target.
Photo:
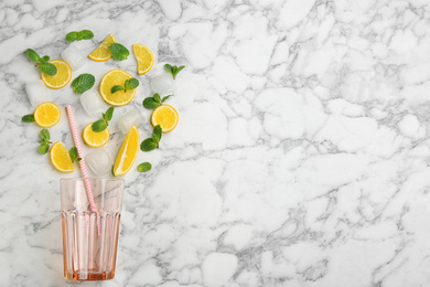
M 90 209 L 86 185 L 90 187 L 96 212 Z M 65 279 L 114 278 L 123 185 L 121 179 L 60 180 Z

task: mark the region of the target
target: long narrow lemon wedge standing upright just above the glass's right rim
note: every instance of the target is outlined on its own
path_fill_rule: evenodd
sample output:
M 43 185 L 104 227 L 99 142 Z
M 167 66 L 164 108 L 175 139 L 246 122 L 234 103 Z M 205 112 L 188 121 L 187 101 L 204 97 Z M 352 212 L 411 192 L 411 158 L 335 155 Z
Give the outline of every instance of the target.
M 121 148 L 118 151 L 117 159 L 114 164 L 114 174 L 123 176 L 129 171 L 138 157 L 139 151 L 139 130 L 136 125 L 127 132 L 122 141 Z

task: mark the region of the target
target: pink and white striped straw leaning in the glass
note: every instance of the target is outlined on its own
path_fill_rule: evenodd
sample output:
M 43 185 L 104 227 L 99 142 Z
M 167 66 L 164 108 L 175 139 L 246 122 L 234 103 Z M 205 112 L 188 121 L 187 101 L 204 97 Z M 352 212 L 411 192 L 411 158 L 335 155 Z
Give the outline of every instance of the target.
M 98 214 L 98 211 L 96 209 L 96 204 L 94 203 L 92 185 L 89 183 L 89 180 L 87 179 L 88 178 L 87 168 L 85 166 L 84 152 L 82 151 L 82 148 L 80 148 L 79 136 L 77 135 L 75 116 L 73 115 L 72 106 L 69 106 L 69 105 L 66 106 L 66 111 L 67 111 L 67 116 L 68 116 L 68 123 L 71 124 L 71 128 L 72 128 L 73 140 L 75 141 L 75 146 L 76 146 L 76 149 L 77 149 L 77 156 L 79 158 L 82 158 L 82 160 L 79 160 L 80 172 L 82 172 L 82 176 L 84 177 L 84 182 L 85 182 L 85 188 L 87 190 L 87 196 L 88 196 L 89 205 L 92 208 L 92 211 L 97 214 L 97 233 L 98 233 L 98 236 L 100 236 L 100 215 Z M 87 230 L 88 228 L 89 228 L 89 226 L 87 226 Z

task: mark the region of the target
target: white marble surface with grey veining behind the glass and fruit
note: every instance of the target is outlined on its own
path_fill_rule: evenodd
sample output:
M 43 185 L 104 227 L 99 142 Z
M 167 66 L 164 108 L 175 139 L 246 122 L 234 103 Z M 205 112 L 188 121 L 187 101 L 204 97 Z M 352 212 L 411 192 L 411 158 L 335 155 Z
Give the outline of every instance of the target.
M 58 57 L 82 29 L 95 32 L 84 53 L 112 33 L 186 65 L 170 102 L 178 128 L 139 153 L 150 173 L 125 177 L 116 278 L 85 286 L 430 286 L 428 0 L 2 0 L 1 286 L 73 285 L 64 174 L 20 119 L 37 77 L 24 50 Z M 112 67 L 136 75 L 132 55 L 83 72 L 98 85 Z M 139 79 L 114 121 L 143 110 Z M 92 120 L 69 86 L 53 98 L 80 128 Z M 72 146 L 65 117 L 50 130 Z M 114 156 L 121 140 L 114 132 Z

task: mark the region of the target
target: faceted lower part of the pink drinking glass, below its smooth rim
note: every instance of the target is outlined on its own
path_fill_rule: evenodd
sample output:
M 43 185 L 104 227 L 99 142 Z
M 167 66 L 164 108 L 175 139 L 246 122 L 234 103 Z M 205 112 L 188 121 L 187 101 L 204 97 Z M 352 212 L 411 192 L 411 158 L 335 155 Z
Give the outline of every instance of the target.
M 97 215 L 92 211 L 62 212 L 64 278 L 106 280 L 115 276 L 120 212 L 100 210 L 100 236 Z

